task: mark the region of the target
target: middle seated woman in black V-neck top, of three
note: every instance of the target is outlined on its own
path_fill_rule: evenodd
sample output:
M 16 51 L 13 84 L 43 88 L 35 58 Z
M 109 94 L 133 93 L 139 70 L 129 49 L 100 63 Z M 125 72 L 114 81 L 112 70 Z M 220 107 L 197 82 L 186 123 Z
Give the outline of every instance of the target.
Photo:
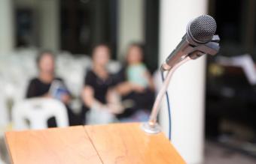
M 114 119 L 114 114 L 119 113 L 122 109 L 114 97 L 114 78 L 107 70 L 107 64 L 110 58 L 110 49 L 105 44 L 99 44 L 93 49 L 92 59 L 93 67 L 87 71 L 84 80 L 84 90 L 82 99 L 84 101 L 83 112 L 92 114 L 97 112 L 96 118 L 90 115 L 90 124 L 105 124 Z M 104 114 L 105 113 L 105 114 Z M 105 115 L 110 117 L 103 121 Z M 107 116 L 108 115 L 108 116 Z M 112 117 L 113 116 L 113 117 Z M 92 120 L 94 119 L 94 120 Z

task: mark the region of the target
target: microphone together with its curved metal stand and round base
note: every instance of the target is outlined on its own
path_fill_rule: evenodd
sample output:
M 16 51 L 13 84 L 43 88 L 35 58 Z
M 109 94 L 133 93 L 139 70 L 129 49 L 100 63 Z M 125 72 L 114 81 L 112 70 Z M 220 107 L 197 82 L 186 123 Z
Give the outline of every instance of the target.
M 188 23 L 186 34 L 181 42 L 161 66 L 161 71 L 168 70 L 168 72 L 154 101 L 150 118 L 148 122 L 142 124 L 142 130 L 146 133 L 156 134 L 161 130 L 160 125 L 157 124 L 157 115 L 175 70 L 187 61 L 197 59 L 204 54 L 215 55 L 218 52 L 220 37 L 215 35 L 216 28 L 215 19 L 209 15 L 198 16 Z

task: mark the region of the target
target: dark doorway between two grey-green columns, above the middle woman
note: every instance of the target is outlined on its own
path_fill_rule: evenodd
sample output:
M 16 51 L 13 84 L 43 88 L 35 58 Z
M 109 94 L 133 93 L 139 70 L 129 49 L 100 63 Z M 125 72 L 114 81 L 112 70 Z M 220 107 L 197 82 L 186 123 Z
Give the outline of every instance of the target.
M 108 43 L 116 58 L 117 0 L 62 0 L 61 49 L 90 54 L 97 43 Z

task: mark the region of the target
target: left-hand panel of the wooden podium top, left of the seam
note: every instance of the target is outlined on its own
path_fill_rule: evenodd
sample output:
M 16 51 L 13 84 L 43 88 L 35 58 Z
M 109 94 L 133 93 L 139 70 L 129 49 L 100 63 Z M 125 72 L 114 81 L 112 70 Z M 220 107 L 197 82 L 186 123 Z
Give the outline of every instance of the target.
M 8 132 L 5 139 L 14 164 L 102 163 L 82 126 Z

